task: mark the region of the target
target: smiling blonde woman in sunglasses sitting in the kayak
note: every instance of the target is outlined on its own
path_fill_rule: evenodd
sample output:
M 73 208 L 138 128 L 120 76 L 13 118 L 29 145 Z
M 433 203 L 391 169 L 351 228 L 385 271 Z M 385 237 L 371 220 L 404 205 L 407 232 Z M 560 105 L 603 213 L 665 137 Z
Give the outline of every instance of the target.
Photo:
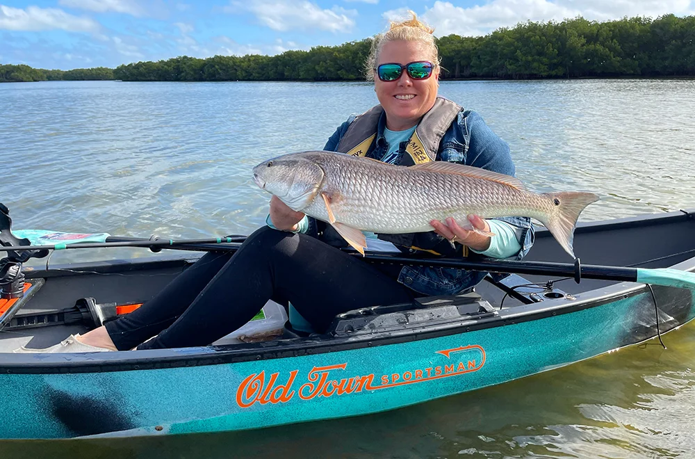
M 482 118 L 437 97 L 440 68 L 432 29 L 411 14 L 374 40 L 366 70 L 375 80 L 379 106 L 350 117 L 325 150 L 402 166 L 455 161 L 514 175 L 509 147 Z M 433 232 L 379 235 L 370 244 L 381 244 L 382 250 L 515 259 L 532 244 L 528 218 L 468 220 L 460 225 L 452 218 L 433 220 Z M 369 264 L 332 246 L 344 241 L 330 227 L 289 209 L 275 196 L 268 224 L 234 255 L 204 255 L 131 314 L 44 352 L 206 346 L 250 321 L 268 299 L 291 303 L 322 332 L 341 312 L 459 293 L 486 275 Z

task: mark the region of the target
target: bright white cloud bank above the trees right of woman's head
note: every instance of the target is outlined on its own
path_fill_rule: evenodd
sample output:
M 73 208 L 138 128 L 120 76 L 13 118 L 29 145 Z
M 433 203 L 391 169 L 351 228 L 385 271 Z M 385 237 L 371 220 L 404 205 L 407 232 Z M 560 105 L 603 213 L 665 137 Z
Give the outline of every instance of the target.
M 434 27 L 434 35 L 486 35 L 500 27 L 513 27 L 519 22 L 562 21 L 582 16 L 606 21 L 621 17 L 651 16 L 667 13 L 692 15 L 691 0 L 492 0 L 478 6 L 462 8 L 448 1 L 437 0 L 425 8 L 423 20 Z M 406 17 L 407 8 L 386 11 L 390 20 Z

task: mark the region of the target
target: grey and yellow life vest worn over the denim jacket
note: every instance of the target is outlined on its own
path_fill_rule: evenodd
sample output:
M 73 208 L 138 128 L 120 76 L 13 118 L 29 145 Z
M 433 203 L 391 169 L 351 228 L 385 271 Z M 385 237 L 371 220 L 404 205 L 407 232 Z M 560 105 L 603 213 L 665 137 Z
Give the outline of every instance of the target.
M 459 104 L 443 97 L 437 97 L 434 106 L 425 113 L 418 123 L 405 149 L 407 154 L 400 158 L 399 166 L 414 166 L 415 164 L 436 161 L 439 143 L 445 132 L 455 122 L 459 112 L 463 110 Z M 358 115 L 345 131 L 343 138 L 336 147 L 336 152 L 351 156 L 367 156 L 375 148 L 379 118 L 384 108 L 377 105 L 365 113 Z M 389 241 L 402 252 L 425 251 L 434 255 L 468 255 L 468 250 L 462 245 L 454 249 L 449 241 L 432 232 L 406 234 L 377 234 L 379 239 Z

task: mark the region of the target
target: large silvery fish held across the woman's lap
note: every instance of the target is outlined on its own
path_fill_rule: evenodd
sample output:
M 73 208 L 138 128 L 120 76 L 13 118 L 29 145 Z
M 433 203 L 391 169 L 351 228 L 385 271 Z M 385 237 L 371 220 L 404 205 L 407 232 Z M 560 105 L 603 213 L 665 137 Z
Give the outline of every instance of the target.
M 342 228 L 346 239 L 345 230 L 352 229 L 428 232 L 432 220 L 467 222 L 470 214 L 530 217 L 543 223 L 572 256 L 579 214 L 598 200 L 594 193 L 532 193 L 514 177 L 455 163 L 393 166 L 335 152 L 279 156 L 256 166 L 254 180 L 292 209 L 332 223 L 338 232 Z

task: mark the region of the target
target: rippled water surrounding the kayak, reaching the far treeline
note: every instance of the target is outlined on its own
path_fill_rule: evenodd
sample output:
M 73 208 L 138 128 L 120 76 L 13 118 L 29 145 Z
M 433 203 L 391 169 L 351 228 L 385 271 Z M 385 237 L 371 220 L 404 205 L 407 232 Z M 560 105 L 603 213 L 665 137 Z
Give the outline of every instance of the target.
M 509 143 L 534 191 L 587 190 L 601 220 L 695 208 L 695 81 L 444 82 Z M 16 228 L 199 238 L 247 234 L 268 195 L 250 168 L 320 148 L 367 83 L 0 85 L 0 202 Z M 170 252 L 169 252 L 170 253 Z M 51 264 L 152 256 L 59 252 Z M 44 261 L 40 261 L 42 264 Z M 695 456 L 695 325 L 514 383 L 354 419 L 137 440 L 0 442 L 2 457 Z

